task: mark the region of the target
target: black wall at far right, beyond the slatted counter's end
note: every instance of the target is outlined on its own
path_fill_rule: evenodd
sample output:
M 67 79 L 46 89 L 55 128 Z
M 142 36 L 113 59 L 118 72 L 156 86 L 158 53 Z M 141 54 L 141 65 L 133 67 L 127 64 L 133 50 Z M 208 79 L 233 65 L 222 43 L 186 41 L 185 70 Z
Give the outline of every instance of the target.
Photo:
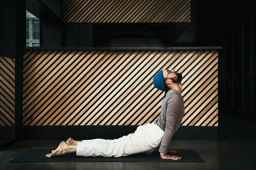
M 226 1 L 222 6 L 225 112 L 256 121 L 255 2 Z

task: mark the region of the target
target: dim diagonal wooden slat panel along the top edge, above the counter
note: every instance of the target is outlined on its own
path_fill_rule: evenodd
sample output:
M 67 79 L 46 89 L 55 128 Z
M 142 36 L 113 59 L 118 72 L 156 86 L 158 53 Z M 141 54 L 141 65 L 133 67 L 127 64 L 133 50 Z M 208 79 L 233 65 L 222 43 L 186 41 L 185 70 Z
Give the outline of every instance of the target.
M 190 22 L 190 0 L 64 0 L 63 22 Z

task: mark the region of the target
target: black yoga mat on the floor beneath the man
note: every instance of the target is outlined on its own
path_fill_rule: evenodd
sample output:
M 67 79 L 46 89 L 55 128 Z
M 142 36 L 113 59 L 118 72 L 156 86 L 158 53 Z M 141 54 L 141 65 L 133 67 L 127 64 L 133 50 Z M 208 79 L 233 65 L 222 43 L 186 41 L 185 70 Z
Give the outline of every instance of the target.
M 151 154 L 137 153 L 125 157 L 80 157 L 75 153 L 68 153 L 59 157 L 45 157 L 52 149 L 29 149 L 19 155 L 10 162 L 204 162 L 203 159 L 193 149 L 175 149 L 180 160 L 163 160 L 160 158 L 159 152 L 155 151 Z

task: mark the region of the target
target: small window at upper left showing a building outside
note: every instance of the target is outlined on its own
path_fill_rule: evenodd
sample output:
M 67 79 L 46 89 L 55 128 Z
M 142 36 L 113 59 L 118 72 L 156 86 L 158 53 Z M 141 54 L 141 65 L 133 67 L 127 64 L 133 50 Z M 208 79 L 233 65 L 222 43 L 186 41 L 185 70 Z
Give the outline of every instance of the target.
M 29 11 L 26 13 L 26 47 L 40 47 L 40 20 Z

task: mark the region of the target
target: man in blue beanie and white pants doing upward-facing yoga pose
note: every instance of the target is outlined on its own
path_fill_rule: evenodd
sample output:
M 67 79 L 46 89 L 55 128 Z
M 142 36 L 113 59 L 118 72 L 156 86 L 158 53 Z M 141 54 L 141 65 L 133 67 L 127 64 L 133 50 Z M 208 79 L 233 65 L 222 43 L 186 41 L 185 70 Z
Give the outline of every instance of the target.
M 76 152 L 82 156 L 103 156 L 122 157 L 134 153 L 151 153 L 159 146 L 160 157 L 162 159 L 178 160 L 182 157 L 170 155 L 175 150 L 168 150 L 172 136 L 176 133 L 184 115 L 184 104 L 181 96 L 182 74 L 175 70 L 160 70 L 153 78 L 154 87 L 165 91 L 161 104 L 161 114 L 156 122 L 147 123 L 137 127 L 137 130 L 127 136 L 118 139 L 92 139 L 76 141 L 69 138 L 62 141 L 57 149 L 46 157 L 55 157 L 66 153 Z

